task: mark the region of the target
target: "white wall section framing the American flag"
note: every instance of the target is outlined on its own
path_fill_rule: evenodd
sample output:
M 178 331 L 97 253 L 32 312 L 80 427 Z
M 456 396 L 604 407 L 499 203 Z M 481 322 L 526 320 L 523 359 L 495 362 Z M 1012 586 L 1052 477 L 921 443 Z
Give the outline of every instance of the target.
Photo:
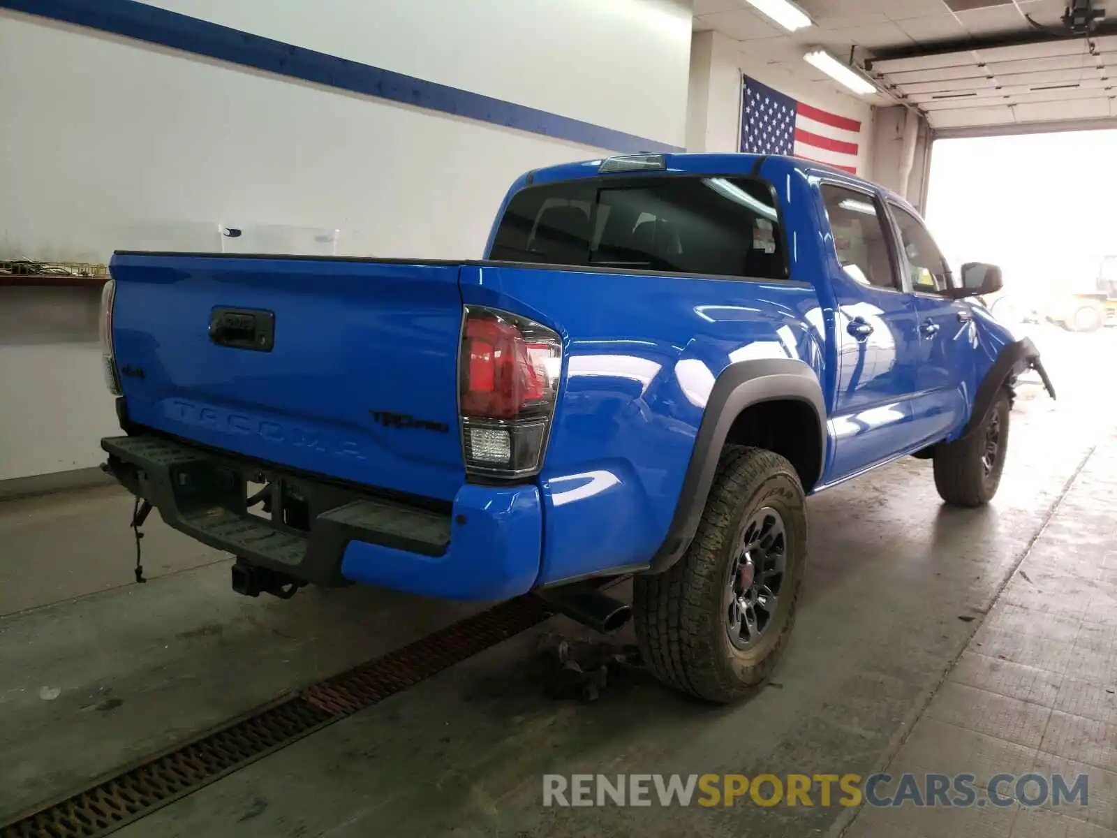
M 751 55 L 739 41 L 715 31 L 695 32 L 691 47 L 687 149 L 734 152 L 741 146 L 741 85 L 748 75 L 780 93 L 861 123 L 858 171 L 872 160 L 872 107 L 857 96 L 834 93 L 785 64 Z

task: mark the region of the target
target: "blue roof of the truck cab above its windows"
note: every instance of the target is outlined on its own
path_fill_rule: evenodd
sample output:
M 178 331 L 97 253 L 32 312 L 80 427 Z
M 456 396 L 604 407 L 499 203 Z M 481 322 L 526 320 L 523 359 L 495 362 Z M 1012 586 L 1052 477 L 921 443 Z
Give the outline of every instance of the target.
M 903 197 L 895 194 L 890 190 L 878 183 L 872 183 L 865 178 L 837 169 L 825 163 L 817 163 L 802 158 L 793 158 L 784 154 L 744 154 L 744 153 L 677 153 L 660 154 L 648 152 L 646 154 L 621 154 L 612 158 L 598 158 L 595 160 L 584 160 L 576 163 L 561 163 L 558 165 L 535 169 L 516 184 L 516 188 L 535 183 L 552 183 L 557 181 L 577 180 L 581 178 L 596 178 L 601 172 L 601 166 L 607 161 L 631 161 L 641 158 L 661 158 L 662 165 L 656 168 L 634 166 L 627 170 L 628 174 L 755 174 L 761 163 L 764 163 L 767 174 L 773 173 L 773 169 L 779 172 L 782 168 L 786 173 L 824 173 L 827 177 L 840 178 L 851 183 L 859 183 L 873 190 L 879 190 L 895 200 L 900 206 L 914 210 L 914 208 Z M 620 170 L 617 173 L 621 173 Z

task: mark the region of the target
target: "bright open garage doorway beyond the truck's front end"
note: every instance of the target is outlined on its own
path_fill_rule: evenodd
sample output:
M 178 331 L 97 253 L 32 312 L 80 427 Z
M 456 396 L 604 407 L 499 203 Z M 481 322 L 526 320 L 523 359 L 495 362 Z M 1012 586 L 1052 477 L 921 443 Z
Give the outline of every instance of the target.
M 926 209 L 955 270 L 1002 268 L 1004 287 L 984 302 L 1043 353 L 1059 409 L 1099 416 L 1117 398 L 1102 383 L 1117 354 L 1117 172 L 1096 161 L 1114 147 L 1117 130 L 937 140 Z M 1056 161 L 1054 177 L 1031 177 Z M 1038 378 L 1021 379 L 1022 398 L 1039 392 Z

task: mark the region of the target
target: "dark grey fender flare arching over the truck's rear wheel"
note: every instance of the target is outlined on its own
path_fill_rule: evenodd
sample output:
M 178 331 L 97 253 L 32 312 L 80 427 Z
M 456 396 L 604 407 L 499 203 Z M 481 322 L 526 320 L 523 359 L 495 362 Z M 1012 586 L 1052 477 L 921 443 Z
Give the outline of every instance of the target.
M 717 377 L 706 401 L 671 525 L 647 572 L 662 573 L 668 570 L 694 541 L 725 439 L 737 417 L 753 404 L 783 400 L 804 402 L 814 411 L 819 422 L 818 444 L 821 446 L 819 474 L 814 475 L 814 479 L 821 479 L 827 453 L 827 408 L 814 370 L 803 361 L 791 358 L 755 359 L 729 364 Z

